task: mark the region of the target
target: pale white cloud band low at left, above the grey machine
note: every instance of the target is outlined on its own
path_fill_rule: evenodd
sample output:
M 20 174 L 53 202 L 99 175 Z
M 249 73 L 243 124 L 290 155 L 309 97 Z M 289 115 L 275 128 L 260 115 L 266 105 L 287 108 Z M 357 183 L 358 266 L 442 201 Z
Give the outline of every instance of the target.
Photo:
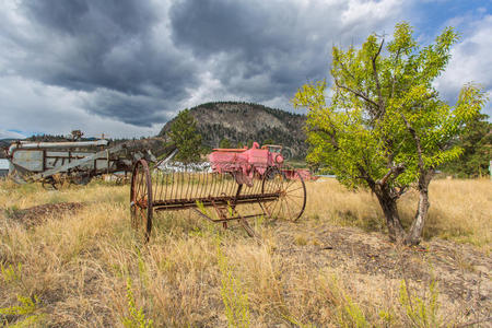
M 0 78 L 0 139 L 2 131 L 17 130 L 25 134 L 69 134 L 80 129 L 85 136 L 110 138 L 156 134 L 161 125 L 150 128 L 127 125 L 101 117 L 83 108 L 85 92 L 49 86 L 19 77 Z M 9 136 L 12 136 L 10 132 Z M 5 138 L 11 138 L 11 137 Z M 14 137 L 16 138 L 16 137 Z

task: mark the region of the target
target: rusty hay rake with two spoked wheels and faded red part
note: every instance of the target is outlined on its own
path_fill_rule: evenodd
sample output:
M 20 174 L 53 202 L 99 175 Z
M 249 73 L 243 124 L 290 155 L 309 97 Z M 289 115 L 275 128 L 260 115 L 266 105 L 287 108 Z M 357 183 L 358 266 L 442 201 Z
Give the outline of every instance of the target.
M 303 176 L 283 163 L 280 151 L 276 145 L 260 149 L 255 142 L 251 149 L 215 149 L 202 164 L 173 163 L 168 157 L 151 169 L 145 160 L 138 161 L 130 189 L 132 226 L 148 241 L 154 211 L 184 209 L 224 227 L 237 221 L 249 235 L 255 235 L 246 222 L 249 218 L 296 221 L 306 206 L 306 187 Z M 250 204 L 253 212 L 239 213 L 237 207 L 243 204 Z

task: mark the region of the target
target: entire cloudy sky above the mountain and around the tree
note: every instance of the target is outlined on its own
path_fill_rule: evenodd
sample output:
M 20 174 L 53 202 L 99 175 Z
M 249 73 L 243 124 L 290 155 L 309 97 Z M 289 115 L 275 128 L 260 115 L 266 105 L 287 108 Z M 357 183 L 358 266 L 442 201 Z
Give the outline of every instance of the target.
M 297 87 L 329 79 L 333 45 L 401 21 L 423 45 L 460 33 L 435 83 L 450 104 L 467 82 L 492 95 L 491 1 L 2 0 L 0 139 L 152 136 L 213 101 L 293 110 Z

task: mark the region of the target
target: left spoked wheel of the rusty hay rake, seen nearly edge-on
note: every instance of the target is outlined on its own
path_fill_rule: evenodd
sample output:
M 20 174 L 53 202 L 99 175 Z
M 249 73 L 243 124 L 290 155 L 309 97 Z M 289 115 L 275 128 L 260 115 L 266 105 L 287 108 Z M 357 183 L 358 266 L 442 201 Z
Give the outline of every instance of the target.
M 152 230 L 152 181 L 145 160 L 133 166 L 130 188 L 131 226 L 149 242 Z

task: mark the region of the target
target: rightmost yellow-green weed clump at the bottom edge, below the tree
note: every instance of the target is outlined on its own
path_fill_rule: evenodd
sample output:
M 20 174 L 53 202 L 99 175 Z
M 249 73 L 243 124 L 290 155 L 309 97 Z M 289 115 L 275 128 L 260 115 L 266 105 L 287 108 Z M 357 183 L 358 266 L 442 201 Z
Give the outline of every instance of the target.
M 437 316 L 438 291 L 435 281 L 430 284 L 430 297 L 424 300 L 417 295 L 411 295 L 408 285 L 405 281 L 400 284 L 400 304 L 413 327 L 441 327 L 441 320 Z

